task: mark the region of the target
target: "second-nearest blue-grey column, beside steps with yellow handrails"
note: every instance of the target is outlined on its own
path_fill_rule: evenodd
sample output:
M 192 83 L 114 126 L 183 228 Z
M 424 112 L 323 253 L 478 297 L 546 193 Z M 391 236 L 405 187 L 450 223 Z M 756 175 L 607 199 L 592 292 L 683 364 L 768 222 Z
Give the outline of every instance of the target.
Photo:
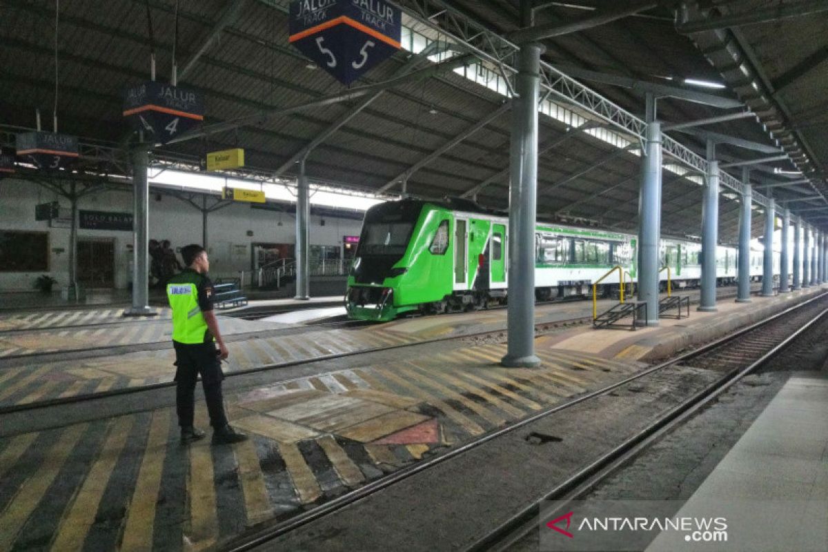
M 654 103 L 654 98 L 647 98 Z M 638 195 L 638 300 L 647 302 L 647 326 L 658 325 L 658 244 L 662 229 L 662 123 L 648 105 L 647 143 Z

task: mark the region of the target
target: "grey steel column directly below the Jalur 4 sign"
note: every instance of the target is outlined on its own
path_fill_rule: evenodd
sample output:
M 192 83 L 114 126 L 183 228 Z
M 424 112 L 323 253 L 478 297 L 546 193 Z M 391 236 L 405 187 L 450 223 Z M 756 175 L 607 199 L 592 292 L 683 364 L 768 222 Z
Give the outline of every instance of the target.
M 149 306 L 149 198 L 147 146 L 132 150 L 132 307 L 127 316 L 156 314 Z

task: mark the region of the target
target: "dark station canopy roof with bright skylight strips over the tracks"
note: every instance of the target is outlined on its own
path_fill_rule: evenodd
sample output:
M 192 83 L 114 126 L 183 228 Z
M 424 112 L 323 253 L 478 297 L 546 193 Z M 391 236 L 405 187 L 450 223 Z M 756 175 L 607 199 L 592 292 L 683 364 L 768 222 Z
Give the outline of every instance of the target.
M 324 135 L 307 156 L 311 180 L 388 194 L 400 193 L 405 180 L 408 194 L 465 194 L 485 206 L 507 209 L 508 70 L 491 60 L 480 62 L 455 39 L 459 22 L 479 24 L 509 40 L 526 39 L 517 32 L 519 2 L 398 3 L 407 9 L 403 49 L 345 87 L 288 43 L 286 1 L 60 2 L 60 131 L 81 142 L 123 147 L 130 133 L 122 116 L 122 91 L 149 77 L 148 9 L 157 78 L 169 79 L 176 47 L 178 84 L 205 94 L 205 128 L 244 118 L 224 132 L 156 148 L 156 159 L 197 166 L 207 151 L 238 146 L 258 175 L 293 178 L 303 149 Z M 657 118 L 666 127 L 751 111 L 749 117 L 667 130 L 667 135 L 701 157 L 705 143 L 715 140 L 725 167 L 787 155 L 749 165 L 754 187 L 777 185 L 756 191 L 768 195 L 772 190 L 777 202 L 797 199 L 788 204 L 792 212 L 802 212 L 815 225 L 826 220 L 819 217 L 828 211 L 819 208 L 826 207 L 828 50 L 824 40 L 815 38 L 828 36 L 828 2 L 535 4 L 535 25 L 555 35 L 540 39 L 546 46 L 543 60 L 625 113 L 643 119 L 644 94 L 653 90 L 660 96 Z M 782 9 L 783 4 L 792 10 Z M 43 113 L 44 127 L 51 128 L 55 0 L 4 0 L 0 20 L 0 130 L 8 136 L 33 127 L 36 108 Z M 474 41 L 479 46 L 483 39 Z M 439 70 L 429 78 L 279 113 L 437 64 Z M 664 87 L 675 94 L 665 96 L 670 90 Z M 718 105 L 709 105 L 710 100 Z M 541 111 L 539 217 L 634 232 L 638 137 L 561 94 L 544 96 Z M 123 174 L 123 164 L 107 164 L 105 157 L 90 156 L 82 166 Z M 696 236 L 702 179 L 670 156 L 664 162 L 662 232 Z M 739 165 L 724 170 L 735 180 L 742 178 Z M 778 186 L 790 181 L 800 183 Z M 803 199 L 808 197 L 815 199 Z M 735 242 L 738 218 L 739 194 L 723 188 L 721 242 Z M 762 233 L 763 217 L 754 217 L 753 235 Z

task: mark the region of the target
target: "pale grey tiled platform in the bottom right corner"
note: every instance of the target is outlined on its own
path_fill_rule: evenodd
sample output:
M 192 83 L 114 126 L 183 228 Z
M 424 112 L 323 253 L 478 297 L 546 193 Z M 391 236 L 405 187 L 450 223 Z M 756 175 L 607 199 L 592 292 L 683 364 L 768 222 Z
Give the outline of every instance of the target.
M 828 550 L 828 376 L 792 372 L 677 517 L 726 514 L 720 550 Z M 773 527 L 773 535 L 768 535 Z M 664 532 L 647 552 L 698 550 Z

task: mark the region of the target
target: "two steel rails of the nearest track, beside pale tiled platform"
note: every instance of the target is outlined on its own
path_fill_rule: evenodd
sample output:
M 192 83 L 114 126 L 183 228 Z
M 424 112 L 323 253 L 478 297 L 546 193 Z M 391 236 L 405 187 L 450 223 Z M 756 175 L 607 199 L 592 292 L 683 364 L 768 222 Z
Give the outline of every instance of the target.
M 774 314 L 747 328 L 739 329 L 724 338 L 717 339 L 694 351 L 682 354 L 667 362 L 648 367 L 643 372 L 625 378 L 623 381 L 615 382 L 599 390 L 578 396 L 561 405 L 542 410 L 536 415 L 532 415 L 513 425 L 508 425 L 503 429 L 495 430 L 457 449 L 452 449 L 445 454 L 422 461 L 410 468 L 404 468 L 385 478 L 368 483 L 314 510 L 307 511 L 287 521 L 282 521 L 281 523 L 262 529 L 257 533 L 233 540 L 227 543 L 222 550 L 242 552 L 257 549 L 258 547 L 266 547 L 270 545 L 272 540 L 282 535 L 286 535 L 325 516 L 335 515 L 337 511 L 341 511 L 345 507 L 353 505 L 355 502 L 369 497 L 386 487 L 401 482 L 403 479 L 424 472 L 437 464 L 450 462 L 454 458 L 468 454 L 469 451 L 479 447 L 481 444 L 511 434 L 537 420 L 561 413 L 575 405 L 582 405 L 586 401 L 608 395 L 619 387 L 628 385 L 631 382 L 645 381 L 647 377 L 652 377 L 657 372 L 665 371 L 668 368 L 682 366 L 703 367 L 705 365 L 706 367 L 713 367 L 715 371 L 721 373 L 721 376 L 703 391 L 696 392 L 692 396 L 687 396 L 680 405 L 669 410 L 666 415 L 662 415 L 657 420 L 652 420 L 646 429 L 634 434 L 633 437 L 626 439 L 614 449 L 609 450 L 598 460 L 590 463 L 589 466 L 572 474 L 566 481 L 561 482 L 556 487 L 551 488 L 549 492 L 546 492 L 540 500 L 532 502 L 531 505 L 528 505 L 522 511 L 511 516 L 507 521 L 496 526 L 488 534 L 481 537 L 466 549 L 475 551 L 506 550 L 510 545 L 521 539 L 523 535 L 526 535 L 528 531 L 537 530 L 537 512 L 542 502 L 548 500 L 574 500 L 575 497 L 579 497 L 584 492 L 595 487 L 609 473 L 613 473 L 614 469 L 627 462 L 629 458 L 638 454 L 648 444 L 651 444 L 663 434 L 672 430 L 676 425 L 681 424 L 681 422 L 696 413 L 696 411 L 709 404 L 710 401 L 714 401 L 717 396 L 734 385 L 735 382 L 738 382 L 739 379 L 753 372 L 762 366 L 764 362 L 767 362 L 770 358 L 780 353 L 782 349 L 786 348 L 789 343 L 792 343 L 794 339 L 806 331 L 806 329 L 810 328 L 812 324 L 815 324 L 819 319 L 828 314 L 826 298 L 828 298 L 828 293 L 817 295 L 811 300 L 807 300 L 800 305 L 795 305 L 781 313 Z M 262 548 L 262 550 L 265 549 Z

